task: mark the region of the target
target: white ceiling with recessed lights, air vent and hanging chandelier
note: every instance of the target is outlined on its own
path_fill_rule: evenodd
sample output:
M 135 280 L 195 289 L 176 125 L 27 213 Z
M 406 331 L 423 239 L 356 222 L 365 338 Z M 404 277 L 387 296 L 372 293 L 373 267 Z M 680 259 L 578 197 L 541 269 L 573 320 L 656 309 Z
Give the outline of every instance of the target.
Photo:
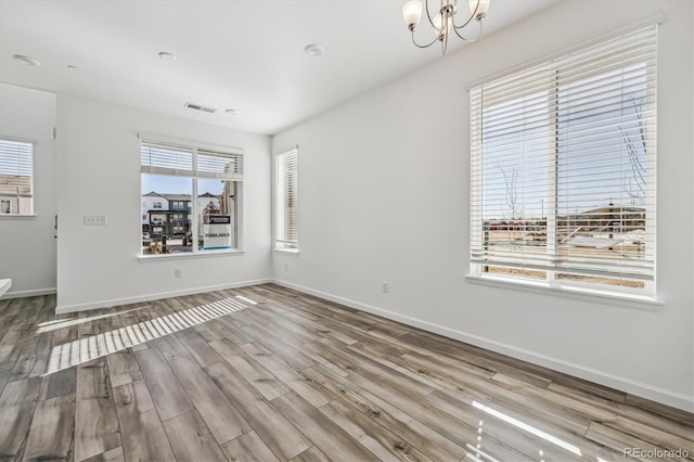
M 485 37 L 556 1 L 491 0 Z M 441 59 L 438 47 L 411 43 L 403 3 L 0 0 L 0 81 L 273 134 Z M 324 55 L 306 54 L 309 43 Z M 449 54 L 463 42 L 452 44 Z M 178 60 L 160 60 L 162 51 Z

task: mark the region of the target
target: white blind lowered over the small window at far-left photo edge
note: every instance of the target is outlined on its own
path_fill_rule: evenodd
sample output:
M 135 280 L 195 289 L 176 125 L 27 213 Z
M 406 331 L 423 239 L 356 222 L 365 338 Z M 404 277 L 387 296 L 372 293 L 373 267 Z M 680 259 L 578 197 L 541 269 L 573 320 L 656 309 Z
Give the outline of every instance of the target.
M 0 139 L 0 198 L 34 196 L 34 144 Z

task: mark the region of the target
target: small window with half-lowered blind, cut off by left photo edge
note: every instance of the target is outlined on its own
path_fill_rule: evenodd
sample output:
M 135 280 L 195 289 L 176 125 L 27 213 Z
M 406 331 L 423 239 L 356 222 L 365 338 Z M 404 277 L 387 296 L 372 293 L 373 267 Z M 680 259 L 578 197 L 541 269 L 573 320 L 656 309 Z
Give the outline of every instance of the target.
M 0 215 L 34 214 L 34 144 L 0 138 Z

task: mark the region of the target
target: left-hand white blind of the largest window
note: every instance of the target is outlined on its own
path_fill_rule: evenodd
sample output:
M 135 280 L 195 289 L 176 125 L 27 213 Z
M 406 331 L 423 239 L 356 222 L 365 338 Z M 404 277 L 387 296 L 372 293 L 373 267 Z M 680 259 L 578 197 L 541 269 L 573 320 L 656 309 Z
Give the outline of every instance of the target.
M 554 80 L 542 65 L 471 91 L 473 262 L 551 266 L 543 218 Z

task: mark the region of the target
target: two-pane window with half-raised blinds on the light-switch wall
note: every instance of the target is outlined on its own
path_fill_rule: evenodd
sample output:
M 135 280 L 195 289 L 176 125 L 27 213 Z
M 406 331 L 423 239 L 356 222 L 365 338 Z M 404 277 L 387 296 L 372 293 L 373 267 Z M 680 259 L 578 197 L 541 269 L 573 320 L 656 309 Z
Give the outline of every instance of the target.
M 141 166 L 143 255 L 241 248 L 242 151 L 142 137 Z

